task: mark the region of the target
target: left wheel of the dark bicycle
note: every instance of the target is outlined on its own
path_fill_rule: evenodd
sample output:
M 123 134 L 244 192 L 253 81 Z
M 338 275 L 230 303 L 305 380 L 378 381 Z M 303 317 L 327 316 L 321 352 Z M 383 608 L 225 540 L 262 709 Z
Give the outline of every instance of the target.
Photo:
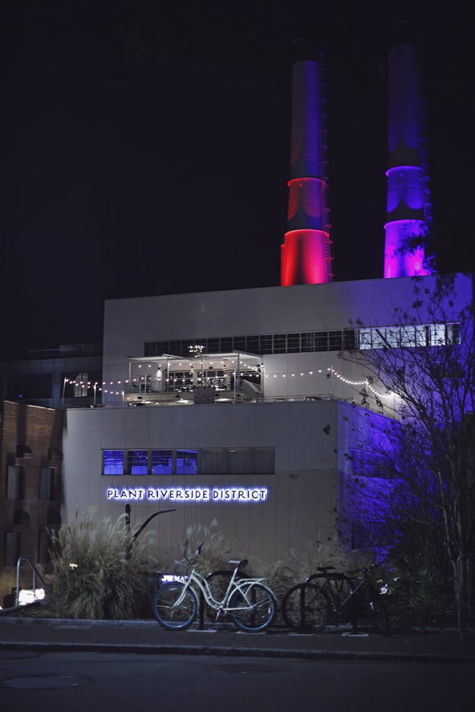
M 282 617 L 292 628 L 318 632 L 328 623 L 328 597 L 319 586 L 300 583 L 288 590 L 282 600 Z

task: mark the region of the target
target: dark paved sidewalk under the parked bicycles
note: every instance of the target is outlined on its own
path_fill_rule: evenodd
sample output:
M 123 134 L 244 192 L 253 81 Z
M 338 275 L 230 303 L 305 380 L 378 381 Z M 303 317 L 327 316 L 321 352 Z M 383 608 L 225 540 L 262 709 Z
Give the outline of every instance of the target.
M 0 616 L 0 651 L 96 651 L 303 658 L 475 663 L 475 635 L 459 632 L 351 636 L 334 629 L 298 634 L 275 625 L 263 633 L 234 627 L 167 631 L 154 621 L 92 621 Z

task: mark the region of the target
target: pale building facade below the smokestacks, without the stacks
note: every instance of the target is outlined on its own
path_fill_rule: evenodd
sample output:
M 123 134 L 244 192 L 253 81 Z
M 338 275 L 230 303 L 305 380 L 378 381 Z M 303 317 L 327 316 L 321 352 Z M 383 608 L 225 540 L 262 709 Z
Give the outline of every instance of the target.
M 455 290 L 468 303 L 471 279 Z M 411 278 L 108 301 L 103 404 L 66 412 L 63 521 L 91 506 L 115 518 L 129 505 L 132 523 L 173 510 L 147 527 L 162 566 L 213 520 L 233 554 L 268 563 L 319 541 L 356 547 L 351 530 L 339 540 L 345 481 L 355 463 L 377 475 L 361 454 L 386 415 L 377 384 L 360 407 L 365 372 L 338 355 L 397 345 L 395 308 L 413 303 Z M 424 310 L 414 345 L 450 340 L 456 325 Z

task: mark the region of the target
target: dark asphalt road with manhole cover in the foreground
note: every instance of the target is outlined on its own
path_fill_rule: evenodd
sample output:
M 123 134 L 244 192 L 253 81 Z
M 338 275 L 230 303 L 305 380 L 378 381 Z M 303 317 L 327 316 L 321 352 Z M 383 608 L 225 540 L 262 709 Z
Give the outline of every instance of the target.
M 473 664 L 0 651 L 1 712 L 437 712 L 471 708 Z

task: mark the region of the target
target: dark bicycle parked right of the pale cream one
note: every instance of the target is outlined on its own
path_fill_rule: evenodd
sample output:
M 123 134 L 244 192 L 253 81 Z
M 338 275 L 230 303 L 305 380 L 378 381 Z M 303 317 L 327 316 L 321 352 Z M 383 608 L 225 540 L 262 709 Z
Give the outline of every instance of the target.
M 291 587 L 282 600 L 282 616 L 289 627 L 323 630 L 333 620 L 351 622 L 357 631 L 357 620 L 369 618 L 372 627 L 382 635 L 389 634 L 389 619 L 383 595 L 372 580 L 372 569 L 363 568 L 355 585 L 349 576 L 333 572 L 333 566 L 318 566 L 318 573 Z M 321 582 L 323 580 L 323 582 Z

